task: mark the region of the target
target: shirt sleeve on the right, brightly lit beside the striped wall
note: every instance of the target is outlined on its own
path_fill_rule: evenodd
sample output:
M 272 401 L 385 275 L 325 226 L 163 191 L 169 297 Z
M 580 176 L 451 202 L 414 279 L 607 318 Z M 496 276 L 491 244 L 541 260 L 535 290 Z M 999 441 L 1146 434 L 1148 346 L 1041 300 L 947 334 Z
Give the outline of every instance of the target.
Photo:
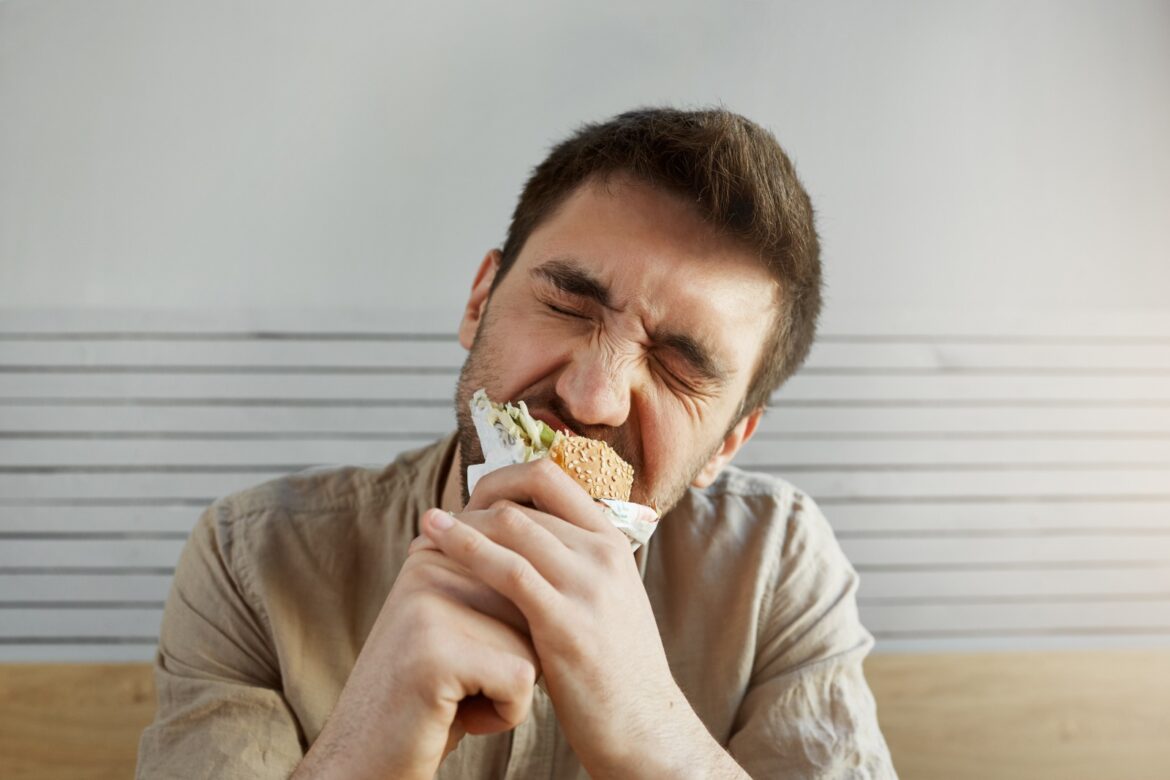
M 752 778 L 896 778 L 861 667 L 856 572 L 799 493 L 778 546 L 729 752 Z

